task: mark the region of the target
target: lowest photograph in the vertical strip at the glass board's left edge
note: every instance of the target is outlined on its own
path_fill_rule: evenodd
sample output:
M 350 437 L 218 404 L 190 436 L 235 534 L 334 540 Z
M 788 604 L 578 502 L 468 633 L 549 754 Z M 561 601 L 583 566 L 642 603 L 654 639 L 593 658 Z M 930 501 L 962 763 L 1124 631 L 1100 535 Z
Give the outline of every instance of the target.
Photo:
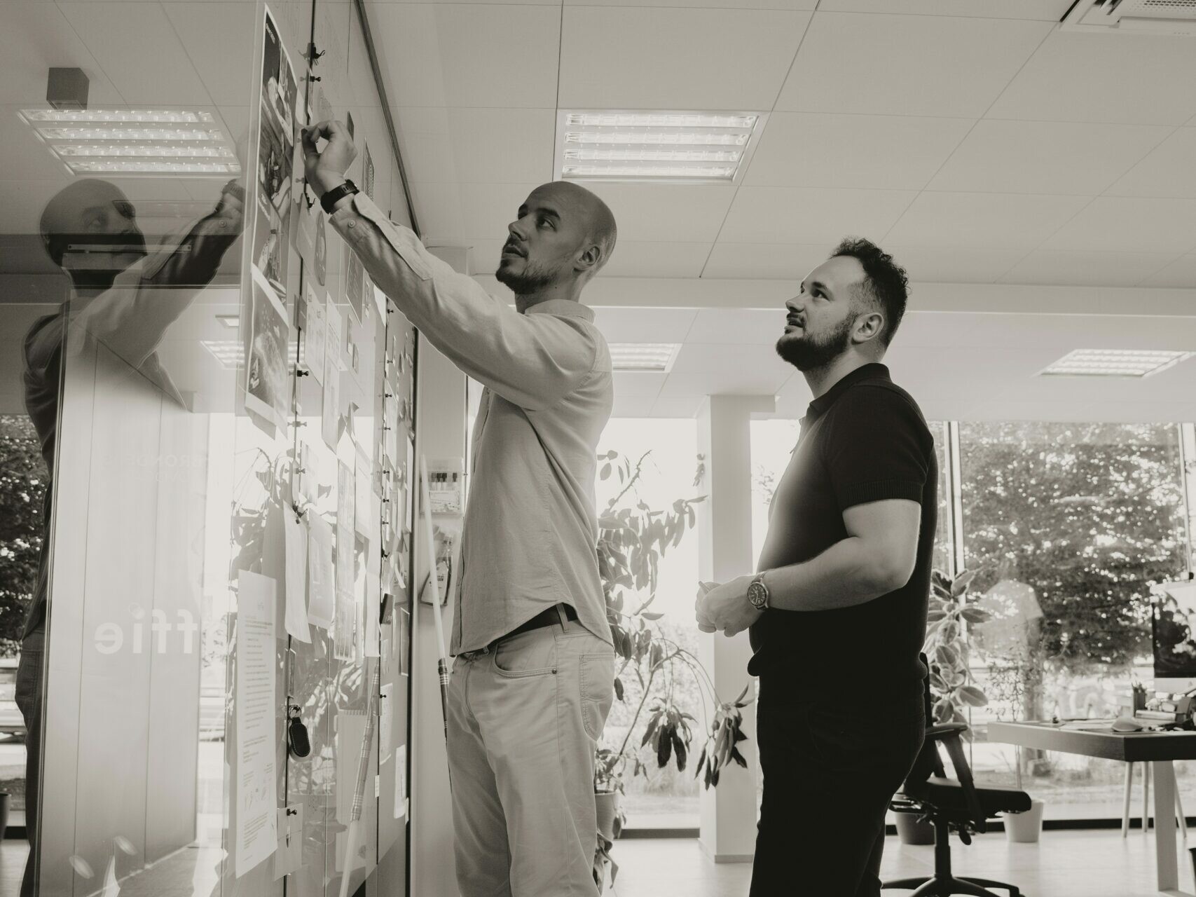
M 256 266 L 250 266 L 249 359 L 245 364 L 245 408 L 276 427 L 286 426 L 291 405 L 287 376 L 287 310 Z

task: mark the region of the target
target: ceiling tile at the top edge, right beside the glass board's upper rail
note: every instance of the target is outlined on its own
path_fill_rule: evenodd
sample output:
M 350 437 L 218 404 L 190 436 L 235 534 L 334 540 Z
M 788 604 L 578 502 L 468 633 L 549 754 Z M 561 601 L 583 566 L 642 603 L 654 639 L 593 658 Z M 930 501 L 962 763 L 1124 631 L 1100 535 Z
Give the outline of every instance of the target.
M 556 108 L 559 7 L 376 4 L 371 28 L 393 106 Z

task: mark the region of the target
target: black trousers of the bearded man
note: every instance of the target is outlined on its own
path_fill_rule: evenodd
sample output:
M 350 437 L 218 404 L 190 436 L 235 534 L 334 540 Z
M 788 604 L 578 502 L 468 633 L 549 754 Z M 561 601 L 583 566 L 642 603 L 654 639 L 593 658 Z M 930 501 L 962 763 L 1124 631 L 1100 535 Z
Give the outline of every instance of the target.
M 846 703 L 777 706 L 762 695 L 751 897 L 880 895 L 885 811 L 922 746 L 922 695 Z

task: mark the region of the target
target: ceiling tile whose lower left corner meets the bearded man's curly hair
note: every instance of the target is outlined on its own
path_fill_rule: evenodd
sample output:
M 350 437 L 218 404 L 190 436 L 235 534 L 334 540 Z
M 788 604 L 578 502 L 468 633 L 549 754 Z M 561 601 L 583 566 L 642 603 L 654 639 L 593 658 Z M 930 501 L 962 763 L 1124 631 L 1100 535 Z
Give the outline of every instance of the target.
M 1084 196 L 923 193 L 884 244 L 1035 249 L 1087 202 Z

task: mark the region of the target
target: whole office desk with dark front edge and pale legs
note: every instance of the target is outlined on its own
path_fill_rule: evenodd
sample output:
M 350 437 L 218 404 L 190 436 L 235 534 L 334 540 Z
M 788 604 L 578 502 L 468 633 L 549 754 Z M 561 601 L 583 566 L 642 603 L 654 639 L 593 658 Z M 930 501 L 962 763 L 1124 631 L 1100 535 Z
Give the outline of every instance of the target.
M 1154 773 L 1154 861 L 1159 891 L 1194 897 L 1179 890 L 1176 773 L 1171 762 L 1196 759 L 1196 732 L 1082 732 L 1060 728 L 1052 722 L 989 722 L 988 740 L 1125 763 L 1149 763 Z

